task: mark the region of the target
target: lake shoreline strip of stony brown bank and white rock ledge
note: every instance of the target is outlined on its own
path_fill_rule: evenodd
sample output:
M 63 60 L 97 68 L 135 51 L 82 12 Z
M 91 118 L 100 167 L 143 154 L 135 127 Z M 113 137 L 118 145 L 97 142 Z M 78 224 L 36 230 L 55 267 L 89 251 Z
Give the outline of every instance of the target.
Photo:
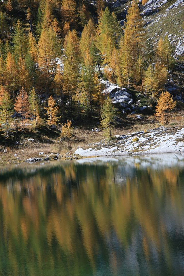
M 29 149 L 29 151 L 28 151 Z M 116 135 L 113 140 L 102 140 L 97 143 L 89 143 L 84 147 L 65 154 L 59 152 L 40 152 L 34 154 L 29 146 L 12 148 L 7 154 L 6 149 L 1 149 L 0 164 L 6 163 L 34 163 L 51 160 L 78 160 L 97 157 L 121 157 L 121 156 L 145 156 L 148 154 L 171 154 L 184 152 L 184 127 L 158 127 L 148 131 L 140 131 L 127 135 Z M 27 153 L 26 153 L 27 150 Z M 38 151 L 38 150 L 37 150 Z M 10 156 L 11 153 L 11 156 Z M 7 156 L 6 156 L 7 155 Z M 30 156 L 31 155 L 31 156 Z

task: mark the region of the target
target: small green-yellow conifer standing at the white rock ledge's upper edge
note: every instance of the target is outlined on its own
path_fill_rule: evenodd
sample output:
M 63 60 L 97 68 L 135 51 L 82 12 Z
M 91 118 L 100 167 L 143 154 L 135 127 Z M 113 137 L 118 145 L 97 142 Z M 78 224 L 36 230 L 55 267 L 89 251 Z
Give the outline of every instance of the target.
M 102 107 L 101 111 L 101 127 L 105 129 L 106 135 L 109 139 L 112 138 L 112 122 L 114 121 L 114 116 L 115 116 L 115 109 L 112 104 L 112 100 L 108 96 L 107 99 L 104 102 L 104 105 Z

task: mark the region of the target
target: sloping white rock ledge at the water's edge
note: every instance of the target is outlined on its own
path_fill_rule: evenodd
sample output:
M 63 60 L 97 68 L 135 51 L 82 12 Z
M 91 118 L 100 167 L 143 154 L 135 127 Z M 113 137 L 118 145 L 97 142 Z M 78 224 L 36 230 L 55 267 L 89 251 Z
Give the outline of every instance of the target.
M 74 154 L 87 157 L 184 152 L 184 127 L 159 127 L 146 133 L 141 131 L 115 138 L 109 142 L 90 143 L 78 148 Z

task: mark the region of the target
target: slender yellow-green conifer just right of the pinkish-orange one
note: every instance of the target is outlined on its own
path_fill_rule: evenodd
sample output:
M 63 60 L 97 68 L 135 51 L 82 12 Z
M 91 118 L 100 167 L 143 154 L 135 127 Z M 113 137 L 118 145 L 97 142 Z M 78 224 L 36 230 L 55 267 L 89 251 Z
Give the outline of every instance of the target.
M 41 122 L 39 98 L 34 88 L 29 94 L 30 113 L 34 116 L 36 127 Z

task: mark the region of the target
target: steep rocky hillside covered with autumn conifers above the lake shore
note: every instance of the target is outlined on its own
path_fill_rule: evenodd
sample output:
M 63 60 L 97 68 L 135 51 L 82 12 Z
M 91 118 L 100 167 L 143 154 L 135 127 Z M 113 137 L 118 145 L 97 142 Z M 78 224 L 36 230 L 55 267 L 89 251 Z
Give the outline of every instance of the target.
M 183 0 L 1 1 L 2 154 L 8 148 L 25 160 L 28 139 L 45 158 L 103 140 L 108 98 L 113 135 L 137 130 L 137 122 L 159 127 L 163 91 L 176 102 L 166 122 L 181 126 L 183 21 Z

